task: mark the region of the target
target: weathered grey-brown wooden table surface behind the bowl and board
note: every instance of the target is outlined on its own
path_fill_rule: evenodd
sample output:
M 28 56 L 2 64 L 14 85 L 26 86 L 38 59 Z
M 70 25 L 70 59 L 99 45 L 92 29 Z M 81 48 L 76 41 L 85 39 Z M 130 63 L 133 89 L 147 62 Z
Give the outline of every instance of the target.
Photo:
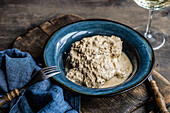
M 133 28 L 146 25 L 148 10 L 133 0 L 1 0 L 0 50 L 11 48 L 18 36 L 61 14 L 110 19 Z M 152 26 L 166 35 L 165 45 L 155 51 L 155 70 L 170 81 L 170 8 L 156 11 Z

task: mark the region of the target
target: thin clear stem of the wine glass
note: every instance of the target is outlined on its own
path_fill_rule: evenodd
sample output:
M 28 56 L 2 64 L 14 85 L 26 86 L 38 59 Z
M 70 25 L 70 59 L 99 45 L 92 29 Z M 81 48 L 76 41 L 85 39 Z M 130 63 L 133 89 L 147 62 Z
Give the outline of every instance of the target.
M 146 31 L 144 33 L 146 38 L 152 38 L 152 35 L 150 34 L 150 27 L 151 27 L 151 22 L 152 22 L 152 16 L 153 16 L 153 10 L 149 10 L 148 23 L 147 23 Z

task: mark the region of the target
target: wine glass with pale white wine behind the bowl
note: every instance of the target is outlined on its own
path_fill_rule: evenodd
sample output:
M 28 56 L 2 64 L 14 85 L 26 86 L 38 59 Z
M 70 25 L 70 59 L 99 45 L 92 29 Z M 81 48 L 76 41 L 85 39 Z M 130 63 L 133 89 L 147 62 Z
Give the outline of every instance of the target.
M 134 28 L 144 35 L 150 42 L 153 50 L 157 50 L 165 43 L 165 35 L 156 28 L 151 27 L 151 21 L 154 10 L 164 9 L 170 6 L 170 0 L 134 0 L 139 6 L 149 10 L 147 26 L 138 26 Z

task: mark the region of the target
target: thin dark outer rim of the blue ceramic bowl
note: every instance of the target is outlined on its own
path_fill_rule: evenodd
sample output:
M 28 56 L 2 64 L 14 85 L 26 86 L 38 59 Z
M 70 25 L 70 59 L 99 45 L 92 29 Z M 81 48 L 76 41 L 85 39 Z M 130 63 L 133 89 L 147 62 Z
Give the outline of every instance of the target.
M 52 77 L 57 83 L 59 86 L 63 87 L 63 88 L 66 88 L 70 91 L 73 91 L 73 92 L 76 92 L 76 93 L 79 93 L 79 94 L 82 94 L 82 95 L 89 95 L 89 96 L 105 96 L 105 95 L 117 95 L 117 94 L 121 94 L 121 93 L 124 93 L 124 92 L 127 92 L 131 89 L 134 89 L 136 88 L 137 86 L 141 85 L 152 73 L 153 71 L 153 68 L 154 68 L 154 64 L 155 64 L 155 55 L 154 55 L 154 50 L 152 48 L 152 46 L 150 45 L 149 41 L 141 34 L 139 33 L 138 31 L 134 30 L 133 28 L 131 28 L 130 26 L 127 26 L 123 23 L 120 23 L 120 22 L 117 22 L 117 21 L 114 21 L 114 20 L 109 20 L 109 19 L 100 19 L 100 18 L 93 18 L 93 19 L 83 19 L 83 20 L 79 20 L 79 21 L 76 21 L 76 22 L 72 22 L 72 23 L 69 23 L 69 24 L 66 24 L 62 27 L 60 27 L 59 29 L 57 29 L 56 31 L 54 31 L 50 36 L 49 38 L 47 39 L 46 43 L 44 44 L 44 48 L 43 48 L 43 61 L 44 61 L 44 65 L 45 66 L 48 66 L 47 63 L 46 63 L 46 60 L 45 60 L 45 49 L 47 47 L 47 45 L 49 44 L 50 40 L 54 37 L 54 35 L 59 32 L 61 29 L 69 26 L 69 25 L 72 25 L 72 24 L 75 24 L 75 23 L 79 23 L 79 22 L 88 22 L 88 21 L 105 21 L 105 22 L 112 22 L 112 23 L 116 23 L 116 24 L 119 24 L 119 25 L 122 25 L 132 31 L 134 31 L 135 33 L 137 33 L 141 38 L 143 38 L 145 40 L 145 42 L 148 44 L 148 46 L 150 47 L 151 49 L 151 65 L 148 69 L 148 72 L 147 74 L 144 75 L 144 77 L 142 79 L 140 79 L 137 83 L 127 87 L 127 88 L 123 88 L 121 90 L 118 90 L 118 91 L 115 91 L 115 92 L 110 92 L 110 93 L 107 93 L 107 94 L 88 94 L 88 93 L 83 93 L 83 92 L 79 92 L 77 90 L 74 90 L 62 83 L 60 83 L 59 81 L 57 81 L 54 77 Z M 119 84 L 119 85 L 116 85 L 116 86 L 120 86 L 120 85 L 123 85 L 125 82 L 123 82 L 122 84 Z M 75 84 L 75 83 L 74 83 Z M 116 86 L 113 86 L 113 87 L 116 87 Z M 85 86 L 84 86 L 85 87 Z M 113 87 L 108 87 L 108 88 L 113 88 Z M 91 88 L 91 89 L 99 89 L 99 88 Z M 107 88 L 100 88 L 100 89 L 107 89 Z

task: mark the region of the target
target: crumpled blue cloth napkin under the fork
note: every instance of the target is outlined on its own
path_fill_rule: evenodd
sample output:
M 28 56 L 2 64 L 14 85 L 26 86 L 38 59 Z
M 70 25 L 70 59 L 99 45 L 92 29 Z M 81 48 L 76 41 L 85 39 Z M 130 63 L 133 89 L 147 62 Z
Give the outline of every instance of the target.
M 0 52 L 0 95 L 19 89 L 40 69 L 29 53 L 17 49 Z M 77 113 L 80 96 L 47 79 L 26 89 L 21 96 L 5 104 L 10 113 Z

